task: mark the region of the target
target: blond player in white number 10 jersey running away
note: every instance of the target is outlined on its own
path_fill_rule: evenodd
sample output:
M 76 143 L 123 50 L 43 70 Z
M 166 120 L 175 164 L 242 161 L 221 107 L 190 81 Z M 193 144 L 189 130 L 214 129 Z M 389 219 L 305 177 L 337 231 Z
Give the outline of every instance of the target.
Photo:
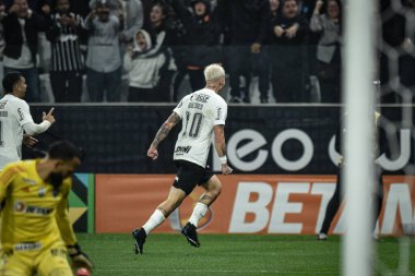
M 147 156 L 153 160 L 157 159 L 157 146 L 170 130 L 179 121 L 182 121 L 181 132 L 178 134 L 174 153 L 174 160 L 178 167 L 175 181 L 166 201 L 158 205 L 142 228 L 132 231 L 137 254 L 143 253 L 146 236 L 181 204 L 195 185 L 203 187 L 205 192 L 195 204 L 189 223 L 182 228 L 181 233 L 191 245 L 200 247 L 195 231 L 198 223 L 206 214 L 209 206 L 217 199 L 222 190 L 220 179 L 206 167 L 213 133 L 215 135 L 215 148 L 222 163 L 222 173 L 232 173 L 232 168 L 227 165 L 224 132 L 227 105 L 218 95 L 225 86 L 225 71 L 220 64 L 211 64 L 204 70 L 204 77 L 206 86 L 181 99 L 167 121 L 161 127 L 149 148 Z

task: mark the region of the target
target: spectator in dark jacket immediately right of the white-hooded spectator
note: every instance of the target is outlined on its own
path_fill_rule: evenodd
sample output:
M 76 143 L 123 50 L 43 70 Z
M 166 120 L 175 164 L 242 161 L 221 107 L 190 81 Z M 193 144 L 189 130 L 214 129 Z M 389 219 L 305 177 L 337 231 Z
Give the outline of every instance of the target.
M 156 39 L 156 52 L 163 52 L 166 62 L 159 73 L 159 81 L 156 87 L 157 101 L 170 101 L 173 76 L 177 71 L 175 62 L 176 46 L 180 45 L 180 29 L 177 22 L 169 16 L 169 5 L 164 2 L 155 2 L 150 12 L 149 33 Z

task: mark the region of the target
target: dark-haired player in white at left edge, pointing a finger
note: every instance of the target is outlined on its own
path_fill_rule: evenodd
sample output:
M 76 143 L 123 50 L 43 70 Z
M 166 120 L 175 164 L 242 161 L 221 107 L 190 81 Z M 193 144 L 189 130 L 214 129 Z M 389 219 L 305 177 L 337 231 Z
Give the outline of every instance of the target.
M 36 135 L 45 132 L 55 122 L 54 108 L 43 115 L 43 122 L 35 123 L 32 119 L 27 103 L 23 99 L 26 94 L 26 81 L 19 72 L 10 72 L 3 77 L 4 97 L 0 99 L 0 171 L 12 161 L 22 158 L 22 141 L 24 133 Z M 26 144 L 36 142 L 26 136 Z

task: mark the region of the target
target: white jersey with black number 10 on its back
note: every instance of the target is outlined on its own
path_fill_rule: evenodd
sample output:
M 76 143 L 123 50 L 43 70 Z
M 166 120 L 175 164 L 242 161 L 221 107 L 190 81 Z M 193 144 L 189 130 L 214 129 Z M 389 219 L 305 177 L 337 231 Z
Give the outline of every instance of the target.
M 213 127 L 225 124 L 226 101 L 212 89 L 203 88 L 187 95 L 173 110 L 182 120 L 174 159 L 206 166 Z

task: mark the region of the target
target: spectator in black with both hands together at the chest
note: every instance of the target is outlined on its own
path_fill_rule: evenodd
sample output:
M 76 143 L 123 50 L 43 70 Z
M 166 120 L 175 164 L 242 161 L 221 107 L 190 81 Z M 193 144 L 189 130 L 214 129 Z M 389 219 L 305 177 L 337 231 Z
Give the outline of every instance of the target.
M 298 14 L 297 0 L 283 0 L 282 13 L 272 23 L 272 88 L 276 103 L 305 103 L 304 43 L 308 23 Z

